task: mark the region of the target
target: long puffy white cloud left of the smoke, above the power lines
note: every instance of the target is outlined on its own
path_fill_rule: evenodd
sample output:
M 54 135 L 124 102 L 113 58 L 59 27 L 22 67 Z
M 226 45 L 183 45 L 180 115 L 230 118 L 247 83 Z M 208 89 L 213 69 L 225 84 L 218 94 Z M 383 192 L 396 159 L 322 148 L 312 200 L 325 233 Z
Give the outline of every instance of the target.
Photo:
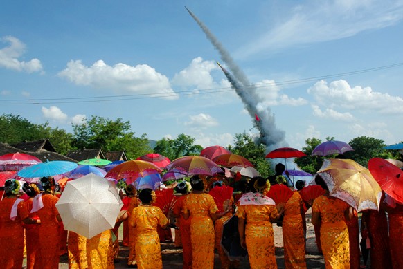
M 70 61 L 58 75 L 78 85 L 111 90 L 120 94 L 177 98 L 177 94 L 171 89 L 168 77 L 156 72 L 147 64 L 109 66 L 98 60 L 92 66 L 84 66 L 80 60 L 76 60 Z

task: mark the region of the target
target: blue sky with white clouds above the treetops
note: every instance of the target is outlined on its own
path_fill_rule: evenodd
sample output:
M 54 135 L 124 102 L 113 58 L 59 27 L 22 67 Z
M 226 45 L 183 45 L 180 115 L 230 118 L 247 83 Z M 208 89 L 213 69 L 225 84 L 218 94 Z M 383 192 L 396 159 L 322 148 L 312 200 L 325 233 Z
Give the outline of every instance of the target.
M 267 151 L 308 138 L 395 144 L 402 33 L 402 0 L 7 1 L 0 115 L 71 133 L 121 118 L 136 136 L 185 133 L 203 147 L 243 132 Z

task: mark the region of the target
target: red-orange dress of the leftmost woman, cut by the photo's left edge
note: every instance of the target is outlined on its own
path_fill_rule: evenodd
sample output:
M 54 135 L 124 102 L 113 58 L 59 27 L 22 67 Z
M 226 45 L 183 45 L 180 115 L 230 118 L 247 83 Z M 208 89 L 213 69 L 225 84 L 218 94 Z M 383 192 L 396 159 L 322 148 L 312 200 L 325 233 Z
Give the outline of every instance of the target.
M 17 206 L 17 217 L 10 219 L 12 205 L 17 197 L 8 197 L 0 201 L 0 268 L 22 268 L 24 253 L 24 228 L 21 219 L 28 216 L 24 203 Z

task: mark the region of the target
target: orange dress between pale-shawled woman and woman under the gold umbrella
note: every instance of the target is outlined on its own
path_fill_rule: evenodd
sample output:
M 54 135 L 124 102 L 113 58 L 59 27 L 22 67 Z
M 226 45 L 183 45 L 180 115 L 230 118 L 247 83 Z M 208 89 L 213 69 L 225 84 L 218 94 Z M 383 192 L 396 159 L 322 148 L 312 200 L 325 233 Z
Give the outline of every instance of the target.
M 285 268 L 307 268 L 303 228 L 303 200 L 298 192 L 285 203 L 283 219 L 283 245 Z

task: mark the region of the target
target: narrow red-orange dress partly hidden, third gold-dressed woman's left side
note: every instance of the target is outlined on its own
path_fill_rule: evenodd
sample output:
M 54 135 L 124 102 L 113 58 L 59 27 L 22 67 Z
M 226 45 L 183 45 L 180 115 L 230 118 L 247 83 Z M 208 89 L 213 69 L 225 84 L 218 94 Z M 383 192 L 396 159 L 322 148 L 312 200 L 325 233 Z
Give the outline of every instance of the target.
M 192 268 L 192 241 L 190 239 L 190 218 L 183 219 L 181 212 L 183 210 L 183 201 L 186 196 L 179 196 L 177 203 L 174 207 L 174 214 L 179 215 L 177 218 L 177 224 L 179 224 L 179 230 L 181 231 L 181 245 L 183 256 L 183 269 Z M 176 238 L 175 238 L 176 241 Z

